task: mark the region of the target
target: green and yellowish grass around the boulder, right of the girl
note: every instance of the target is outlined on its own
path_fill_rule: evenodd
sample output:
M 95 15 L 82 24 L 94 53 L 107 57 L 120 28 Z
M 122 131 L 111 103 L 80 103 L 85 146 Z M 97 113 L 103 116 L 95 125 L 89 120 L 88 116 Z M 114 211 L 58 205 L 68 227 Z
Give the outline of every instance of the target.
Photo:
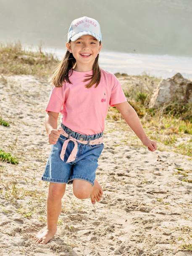
M 153 90 L 160 79 L 143 76 L 121 77 L 127 101 L 139 116 L 143 128 L 151 140 L 158 142 L 159 150 L 172 150 L 186 156 L 192 156 L 192 103 L 179 102 L 163 104 L 159 108 L 149 108 Z M 107 119 L 117 121 L 118 127 L 127 130 L 126 123 L 116 107 L 109 108 Z M 187 137 L 186 137 L 187 136 Z M 134 136 L 133 136 L 134 137 Z M 185 140 L 182 139 L 185 137 Z M 130 139 L 130 138 L 129 138 Z M 186 140 L 187 139 L 187 140 Z M 134 137 L 137 145 L 137 137 Z

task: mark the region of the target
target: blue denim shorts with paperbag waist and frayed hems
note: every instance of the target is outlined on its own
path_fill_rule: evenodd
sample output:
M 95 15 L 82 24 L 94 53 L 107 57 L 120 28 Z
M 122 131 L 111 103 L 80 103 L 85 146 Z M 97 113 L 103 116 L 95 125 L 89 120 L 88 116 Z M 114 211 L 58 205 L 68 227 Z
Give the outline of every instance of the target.
M 103 136 L 103 132 L 95 135 L 83 135 L 74 132 L 61 123 L 63 130 L 75 139 L 95 140 Z M 64 161 L 60 158 L 60 152 L 67 137 L 60 135 L 55 145 L 51 145 L 50 155 L 42 176 L 42 180 L 55 183 L 72 184 L 74 179 L 82 179 L 94 185 L 95 172 L 98 167 L 98 158 L 104 148 L 104 144 L 89 145 L 77 142 L 78 152 L 74 161 L 66 163 L 68 156 L 74 148 L 74 142 L 69 141 Z

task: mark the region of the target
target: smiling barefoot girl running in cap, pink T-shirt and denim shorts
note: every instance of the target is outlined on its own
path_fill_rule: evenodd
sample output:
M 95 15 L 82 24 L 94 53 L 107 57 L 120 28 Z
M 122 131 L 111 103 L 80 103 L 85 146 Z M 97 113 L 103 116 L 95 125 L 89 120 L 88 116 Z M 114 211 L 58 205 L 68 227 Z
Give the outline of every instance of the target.
M 34 240 L 46 244 L 57 231 L 61 199 L 66 184 L 79 199 L 102 197 L 95 179 L 97 161 L 104 148 L 103 131 L 108 106 L 116 106 L 126 123 L 148 150 L 156 150 L 142 128 L 136 111 L 127 102 L 114 74 L 100 69 L 100 24 L 93 18 L 72 21 L 67 52 L 50 79 L 53 87 L 46 107 L 45 127 L 52 144 L 42 180 L 50 182 L 47 196 L 47 229 Z M 58 114 L 60 126 L 57 127 Z

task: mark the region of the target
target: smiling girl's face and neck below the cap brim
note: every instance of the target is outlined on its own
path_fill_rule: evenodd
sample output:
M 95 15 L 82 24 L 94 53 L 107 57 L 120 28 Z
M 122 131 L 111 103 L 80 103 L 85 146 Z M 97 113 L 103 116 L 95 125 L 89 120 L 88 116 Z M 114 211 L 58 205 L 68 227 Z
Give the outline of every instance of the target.
M 83 67 L 85 69 L 92 69 L 95 58 L 102 48 L 102 44 L 91 35 L 84 35 L 79 37 L 76 41 L 66 43 L 69 52 L 73 54 L 76 59 L 76 68 Z M 81 68 L 80 68 L 81 69 Z

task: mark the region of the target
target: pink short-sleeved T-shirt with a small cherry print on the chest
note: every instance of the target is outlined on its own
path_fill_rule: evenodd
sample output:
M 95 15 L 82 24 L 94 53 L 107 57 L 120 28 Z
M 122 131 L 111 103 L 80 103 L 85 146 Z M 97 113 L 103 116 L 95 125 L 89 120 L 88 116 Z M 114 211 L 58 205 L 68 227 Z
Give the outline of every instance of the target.
M 93 135 L 103 132 L 105 118 L 109 106 L 127 101 L 121 84 L 116 76 L 101 69 L 101 79 L 98 86 L 95 84 L 86 88 L 83 82 L 86 74 L 91 71 L 74 71 L 69 80 L 73 84 L 63 82 L 62 87 L 53 86 L 45 111 L 61 113 L 61 122 L 74 132 L 84 135 Z

